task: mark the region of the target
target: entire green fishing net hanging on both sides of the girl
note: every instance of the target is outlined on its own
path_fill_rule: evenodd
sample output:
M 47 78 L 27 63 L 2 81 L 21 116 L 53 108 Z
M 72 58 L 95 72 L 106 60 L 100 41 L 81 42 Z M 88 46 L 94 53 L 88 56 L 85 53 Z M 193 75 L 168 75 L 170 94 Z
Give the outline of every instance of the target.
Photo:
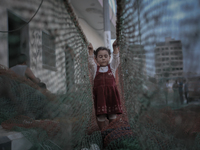
M 0 24 L 5 30 L 0 33 L 1 49 L 8 43 L 9 67 L 23 52 L 35 76 L 47 86 L 0 66 L 1 126 L 21 132 L 31 142 L 31 150 L 200 148 L 200 106 L 183 103 L 183 92 L 172 88 L 174 80 L 199 70 L 200 2 L 117 0 L 116 4 L 120 47 L 116 81 L 123 114 L 110 124 L 106 120 L 100 131 L 88 41 L 70 3 L 0 2 L 0 18 L 5 22 Z M 171 86 L 166 89 L 167 80 Z

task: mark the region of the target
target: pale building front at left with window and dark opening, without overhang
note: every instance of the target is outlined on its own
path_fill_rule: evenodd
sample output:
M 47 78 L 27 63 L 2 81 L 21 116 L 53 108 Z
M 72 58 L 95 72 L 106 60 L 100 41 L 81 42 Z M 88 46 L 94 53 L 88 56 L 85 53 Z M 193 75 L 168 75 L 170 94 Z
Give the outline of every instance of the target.
M 83 43 L 77 42 L 80 34 L 65 4 L 8 0 L 0 5 L 0 28 L 7 31 L 0 34 L 0 64 L 10 68 L 26 54 L 27 65 L 52 93 L 66 93 L 83 74 L 77 71 Z

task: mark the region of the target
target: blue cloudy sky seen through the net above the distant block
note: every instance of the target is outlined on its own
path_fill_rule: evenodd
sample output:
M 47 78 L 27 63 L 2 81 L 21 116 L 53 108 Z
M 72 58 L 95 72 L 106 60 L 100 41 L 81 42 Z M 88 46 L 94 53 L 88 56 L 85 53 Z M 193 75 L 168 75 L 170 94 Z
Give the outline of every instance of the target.
M 165 5 L 160 5 L 164 1 L 167 3 L 165 3 Z M 156 39 L 148 39 L 154 41 L 152 42 L 154 45 L 146 45 L 145 48 L 147 50 L 154 49 L 155 43 L 164 42 L 165 37 L 181 40 L 184 72 L 190 71 L 200 74 L 200 1 L 146 0 L 146 2 L 148 5 L 144 7 L 144 12 L 148 9 L 156 8 L 156 5 L 160 5 L 160 8 L 154 9 L 155 12 L 147 14 L 149 18 L 153 18 L 154 15 L 159 13 L 162 17 L 158 25 L 155 25 L 154 28 L 149 28 L 146 32 L 142 32 L 142 39 L 145 39 L 145 37 L 151 33 L 156 35 Z M 141 15 L 141 21 L 142 19 Z M 153 21 L 151 23 L 153 23 Z M 145 45 L 145 41 L 143 43 Z

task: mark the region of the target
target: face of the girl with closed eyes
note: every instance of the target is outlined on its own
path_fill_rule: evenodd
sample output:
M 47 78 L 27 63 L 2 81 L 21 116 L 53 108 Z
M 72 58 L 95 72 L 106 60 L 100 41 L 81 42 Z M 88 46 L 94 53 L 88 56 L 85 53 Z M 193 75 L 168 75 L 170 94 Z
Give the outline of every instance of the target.
M 98 52 L 96 60 L 100 66 L 105 67 L 108 65 L 110 61 L 110 55 L 108 54 L 106 50 L 100 50 Z

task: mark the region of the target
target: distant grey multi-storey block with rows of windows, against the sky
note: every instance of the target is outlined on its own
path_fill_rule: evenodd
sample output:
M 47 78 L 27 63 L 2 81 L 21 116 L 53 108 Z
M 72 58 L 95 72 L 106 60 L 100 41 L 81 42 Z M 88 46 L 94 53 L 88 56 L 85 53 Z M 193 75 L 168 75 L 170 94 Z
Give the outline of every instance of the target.
M 167 37 L 165 42 L 156 44 L 155 77 L 157 80 L 183 77 L 183 53 L 180 40 Z

